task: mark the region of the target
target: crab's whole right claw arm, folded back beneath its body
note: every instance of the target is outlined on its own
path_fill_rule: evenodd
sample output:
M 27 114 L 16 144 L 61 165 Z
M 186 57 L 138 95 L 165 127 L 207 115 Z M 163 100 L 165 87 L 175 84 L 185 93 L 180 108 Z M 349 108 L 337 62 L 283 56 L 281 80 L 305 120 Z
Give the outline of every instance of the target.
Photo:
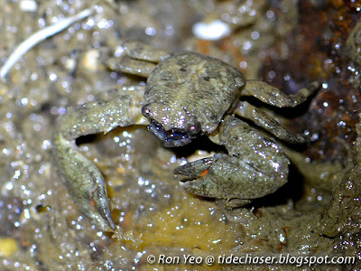
M 175 174 L 194 180 L 180 182 L 192 194 L 226 199 L 227 208 L 278 190 L 287 182 L 289 160 L 281 147 L 236 117 L 226 117 L 219 142 L 228 154 L 215 154 L 182 165 Z

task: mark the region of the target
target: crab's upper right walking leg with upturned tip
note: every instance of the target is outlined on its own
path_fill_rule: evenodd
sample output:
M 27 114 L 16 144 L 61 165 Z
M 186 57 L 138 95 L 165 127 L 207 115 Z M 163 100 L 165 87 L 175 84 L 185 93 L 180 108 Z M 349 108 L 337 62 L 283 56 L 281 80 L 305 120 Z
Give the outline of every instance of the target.
M 300 89 L 296 94 L 287 95 L 264 81 L 247 80 L 242 96 L 255 97 L 273 107 L 296 107 L 319 89 L 319 82 L 312 82 L 308 88 Z

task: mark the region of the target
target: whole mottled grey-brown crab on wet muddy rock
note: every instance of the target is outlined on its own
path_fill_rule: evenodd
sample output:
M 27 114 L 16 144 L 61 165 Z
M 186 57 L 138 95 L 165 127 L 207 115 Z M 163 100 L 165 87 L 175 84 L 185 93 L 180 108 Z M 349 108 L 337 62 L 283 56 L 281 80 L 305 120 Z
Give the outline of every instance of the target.
M 116 126 L 148 125 L 165 147 L 187 145 L 199 135 L 223 145 L 227 154 L 181 165 L 174 173 L 186 176 L 180 182 L 186 192 L 220 199 L 230 209 L 273 193 L 287 182 L 290 162 L 272 136 L 292 144 L 305 139 L 245 98 L 273 107 L 296 107 L 318 89 L 318 83 L 286 95 L 263 81 L 246 81 L 241 71 L 226 62 L 196 52 L 170 54 L 136 41 L 124 42 L 122 48 L 120 59 L 107 62 L 109 68 L 148 78 L 144 90 L 69 107 L 59 117 L 53 135 L 54 155 L 65 186 L 97 229 L 116 228 L 106 182 L 74 141 L 81 135 L 107 133 Z

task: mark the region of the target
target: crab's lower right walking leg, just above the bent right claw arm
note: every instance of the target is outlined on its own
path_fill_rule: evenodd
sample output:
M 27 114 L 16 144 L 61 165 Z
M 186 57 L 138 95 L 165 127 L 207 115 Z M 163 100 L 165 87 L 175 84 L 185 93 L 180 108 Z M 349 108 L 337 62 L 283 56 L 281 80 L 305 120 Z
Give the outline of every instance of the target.
M 281 126 L 278 121 L 268 115 L 264 109 L 257 108 L 245 101 L 239 102 L 235 114 L 251 120 L 257 126 L 264 128 L 267 132 L 286 142 L 301 144 L 306 141 L 302 135 L 294 135 L 285 127 Z

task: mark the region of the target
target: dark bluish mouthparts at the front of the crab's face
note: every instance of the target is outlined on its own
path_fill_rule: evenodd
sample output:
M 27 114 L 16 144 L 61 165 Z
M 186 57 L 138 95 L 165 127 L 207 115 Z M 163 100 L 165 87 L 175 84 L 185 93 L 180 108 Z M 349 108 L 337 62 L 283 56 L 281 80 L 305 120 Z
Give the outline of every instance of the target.
M 165 131 L 164 128 L 154 120 L 151 121 L 150 126 L 148 126 L 148 130 L 161 139 L 165 147 L 187 145 L 195 137 L 192 135 L 184 135 L 177 129 Z

